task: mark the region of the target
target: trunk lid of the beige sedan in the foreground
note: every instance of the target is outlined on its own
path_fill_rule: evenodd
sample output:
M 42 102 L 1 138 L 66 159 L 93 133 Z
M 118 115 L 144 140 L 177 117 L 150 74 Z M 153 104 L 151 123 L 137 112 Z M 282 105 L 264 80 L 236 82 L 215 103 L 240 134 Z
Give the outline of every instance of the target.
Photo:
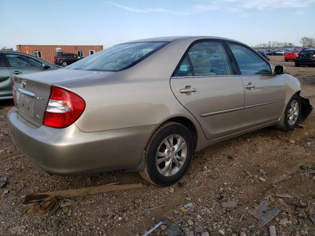
M 49 101 L 52 85 L 58 86 L 58 83 L 68 82 L 76 84 L 79 87 L 80 83 L 78 82 L 81 80 L 92 81 L 104 78 L 113 73 L 115 72 L 59 69 L 13 77 L 13 92 L 18 113 L 32 124 L 39 127 L 43 123 L 44 112 Z M 62 87 L 64 88 L 64 86 Z

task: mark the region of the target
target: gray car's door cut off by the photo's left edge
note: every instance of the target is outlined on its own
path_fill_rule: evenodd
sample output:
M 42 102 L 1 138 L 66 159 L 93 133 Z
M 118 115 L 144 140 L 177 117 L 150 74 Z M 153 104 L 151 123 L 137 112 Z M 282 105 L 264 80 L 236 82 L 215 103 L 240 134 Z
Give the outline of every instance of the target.
M 0 99 L 7 96 L 12 96 L 12 78 L 0 53 Z

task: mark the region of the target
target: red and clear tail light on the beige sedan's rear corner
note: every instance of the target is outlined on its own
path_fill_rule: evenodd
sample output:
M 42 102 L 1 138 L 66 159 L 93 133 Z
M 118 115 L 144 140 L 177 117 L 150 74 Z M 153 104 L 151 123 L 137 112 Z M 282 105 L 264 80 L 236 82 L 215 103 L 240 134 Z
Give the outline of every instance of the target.
M 66 89 L 51 87 L 43 125 L 65 128 L 73 124 L 84 109 L 85 101 L 80 96 Z

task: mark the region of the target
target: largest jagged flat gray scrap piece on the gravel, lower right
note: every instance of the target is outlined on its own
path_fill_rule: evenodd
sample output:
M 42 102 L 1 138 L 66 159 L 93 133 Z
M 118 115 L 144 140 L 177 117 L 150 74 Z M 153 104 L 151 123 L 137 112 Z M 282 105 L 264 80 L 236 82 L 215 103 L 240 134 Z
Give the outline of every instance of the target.
M 259 228 L 263 227 L 265 224 L 271 221 L 280 212 L 280 210 L 277 207 L 271 210 L 268 210 L 268 207 L 269 201 L 265 200 L 257 208 L 253 208 L 248 211 L 250 215 L 252 215 L 258 220 Z

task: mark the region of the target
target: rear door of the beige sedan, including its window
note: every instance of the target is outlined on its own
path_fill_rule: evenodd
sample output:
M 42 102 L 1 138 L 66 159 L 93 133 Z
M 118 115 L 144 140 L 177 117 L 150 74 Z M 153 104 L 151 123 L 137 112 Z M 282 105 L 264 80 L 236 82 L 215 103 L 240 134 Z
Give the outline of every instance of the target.
M 170 85 L 208 139 L 239 131 L 244 88 L 240 76 L 233 73 L 223 41 L 193 43 L 174 71 Z

